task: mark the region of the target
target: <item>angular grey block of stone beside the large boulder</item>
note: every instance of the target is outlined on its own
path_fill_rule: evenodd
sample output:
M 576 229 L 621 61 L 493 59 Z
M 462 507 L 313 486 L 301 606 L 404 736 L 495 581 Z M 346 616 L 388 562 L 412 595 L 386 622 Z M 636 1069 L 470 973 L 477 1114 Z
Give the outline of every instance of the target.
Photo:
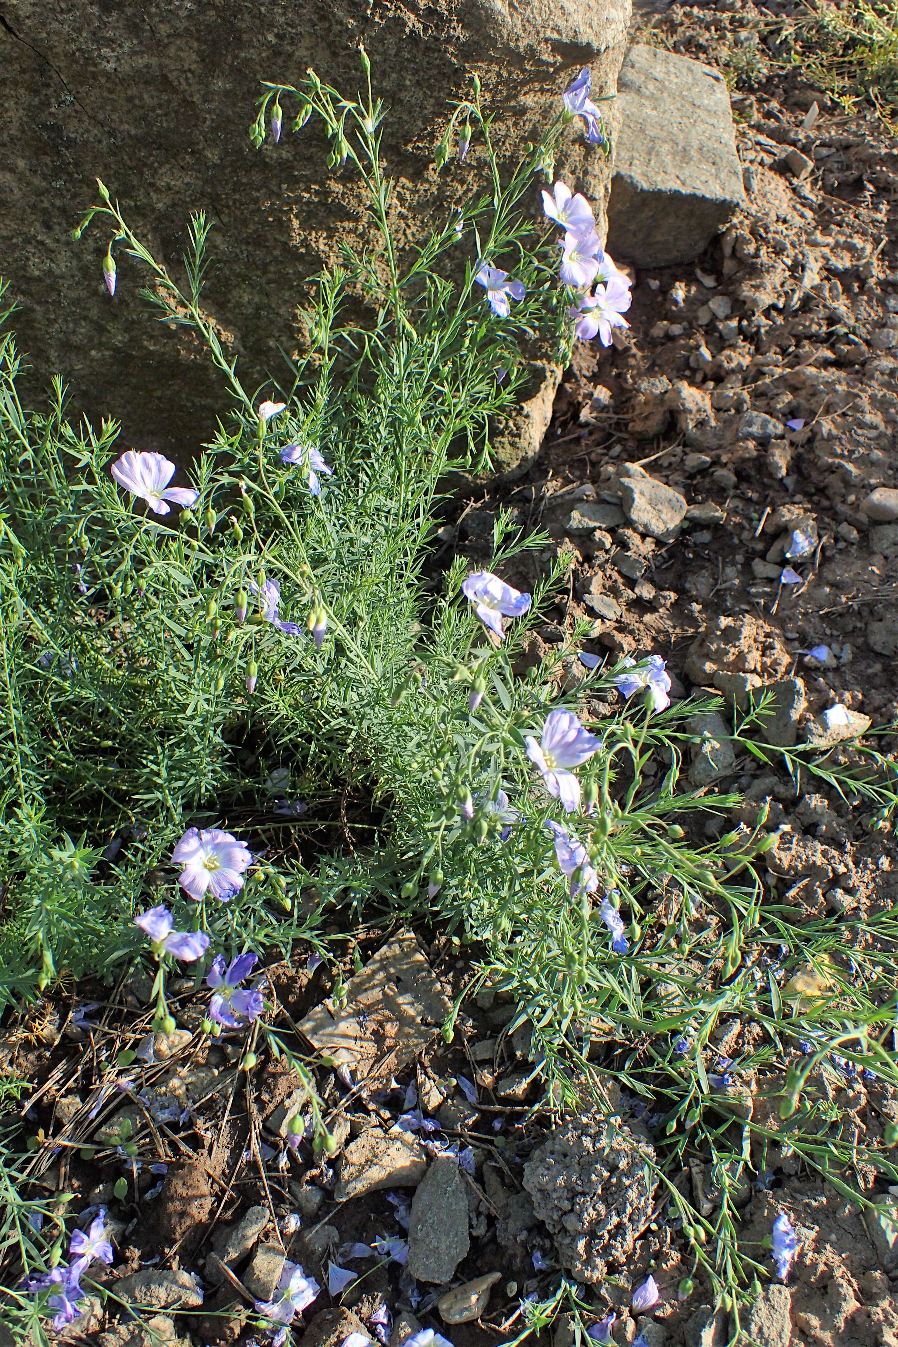
M 609 251 L 637 267 L 693 261 L 745 202 L 723 75 L 637 44 L 614 112 Z

